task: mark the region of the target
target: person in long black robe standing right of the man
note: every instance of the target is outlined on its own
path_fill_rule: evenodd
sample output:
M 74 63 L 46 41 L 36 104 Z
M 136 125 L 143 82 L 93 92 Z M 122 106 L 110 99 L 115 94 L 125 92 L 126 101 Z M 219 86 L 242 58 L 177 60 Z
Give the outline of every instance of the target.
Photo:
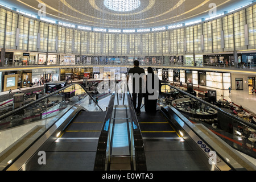
M 144 97 L 146 113 L 155 113 L 159 93 L 161 93 L 161 82 L 157 75 L 154 74 L 151 67 L 147 68 L 146 76 L 146 94 Z

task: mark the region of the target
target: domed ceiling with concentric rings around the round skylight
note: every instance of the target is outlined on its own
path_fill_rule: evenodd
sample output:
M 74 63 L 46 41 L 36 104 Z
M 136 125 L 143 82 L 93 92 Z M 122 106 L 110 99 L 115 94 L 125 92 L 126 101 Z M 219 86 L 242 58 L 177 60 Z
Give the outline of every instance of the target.
M 1 0 L 10 7 L 46 15 L 63 22 L 90 27 L 150 28 L 209 17 L 250 3 L 248 0 Z M 214 3 L 214 4 L 211 4 Z

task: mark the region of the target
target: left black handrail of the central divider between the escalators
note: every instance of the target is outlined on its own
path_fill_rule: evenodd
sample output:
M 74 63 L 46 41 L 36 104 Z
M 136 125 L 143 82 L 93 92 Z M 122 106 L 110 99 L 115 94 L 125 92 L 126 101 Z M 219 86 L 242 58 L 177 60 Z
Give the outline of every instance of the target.
M 115 92 L 112 93 L 112 96 L 110 97 L 108 110 L 106 111 L 106 116 L 101 129 L 101 134 L 100 134 L 100 137 L 98 138 L 96 158 L 94 162 L 94 171 L 105 170 L 106 150 L 108 147 L 108 136 L 109 136 L 109 130 L 110 130 L 110 121 L 112 119 L 112 113 L 114 108 L 114 101 L 115 101 Z

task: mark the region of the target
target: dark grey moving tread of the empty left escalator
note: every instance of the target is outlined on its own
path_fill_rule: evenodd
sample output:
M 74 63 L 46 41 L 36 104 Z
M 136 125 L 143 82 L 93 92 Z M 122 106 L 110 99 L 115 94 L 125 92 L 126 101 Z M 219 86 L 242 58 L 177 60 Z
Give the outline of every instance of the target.
M 39 149 L 46 152 L 46 165 L 39 164 L 38 155 L 34 155 L 23 168 L 28 171 L 92 171 L 105 114 L 104 111 L 79 111 L 60 137 Z

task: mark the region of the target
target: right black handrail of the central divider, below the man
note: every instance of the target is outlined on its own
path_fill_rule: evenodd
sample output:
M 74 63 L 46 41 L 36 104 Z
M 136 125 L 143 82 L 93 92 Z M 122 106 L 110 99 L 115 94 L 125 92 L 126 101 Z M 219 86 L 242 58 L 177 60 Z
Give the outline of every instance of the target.
M 139 122 L 133 102 L 131 101 L 131 94 L 127 93 L 127 101 L 131 114 L 131 124 L 133 126 L 133 139 L 134 139 L 134 149 L 135 149 L 135 159 L 136 159 L 136 170 L 146 171 L 146 156 L 144 151 L 144 143 L 141 133 L 141 128 L 139 127 Z M 132 149 L 131 149 L 132 150 Z

